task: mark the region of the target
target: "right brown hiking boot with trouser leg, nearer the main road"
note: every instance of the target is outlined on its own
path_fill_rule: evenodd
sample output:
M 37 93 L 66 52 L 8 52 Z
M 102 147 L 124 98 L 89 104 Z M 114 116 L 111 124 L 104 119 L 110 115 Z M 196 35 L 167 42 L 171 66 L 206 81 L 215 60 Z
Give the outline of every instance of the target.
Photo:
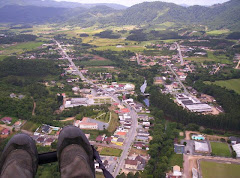
M 78 127 L 66 126 L 60 132 L 57 156 L 62 178 L 95 177 L 92 147 Z

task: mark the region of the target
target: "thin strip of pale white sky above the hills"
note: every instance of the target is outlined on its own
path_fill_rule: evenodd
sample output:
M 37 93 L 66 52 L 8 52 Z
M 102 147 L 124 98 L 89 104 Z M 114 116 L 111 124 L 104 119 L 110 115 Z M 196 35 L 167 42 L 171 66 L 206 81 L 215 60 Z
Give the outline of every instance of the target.
M 132 6 L 144 1 L 156 1 L 156 0 L 57 0 L 57 1 L 72 1 L 80 3 L 117 3 L 125 6 Z M 161 0 L 164 2 L 173 2 L 176 4 L 187 4 L 187 5 L 213 5 L 217 3 L 223 3 L 228 0 Z

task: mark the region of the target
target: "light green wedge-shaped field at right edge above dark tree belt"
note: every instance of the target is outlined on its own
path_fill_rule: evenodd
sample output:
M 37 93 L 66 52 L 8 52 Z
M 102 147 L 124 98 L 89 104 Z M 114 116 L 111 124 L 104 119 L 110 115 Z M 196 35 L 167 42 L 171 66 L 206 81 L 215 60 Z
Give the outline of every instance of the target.
M 240 79 L 231 80 L 219 80 L 215 82 L 205 82 L 206 84 L 216 84 L 221 87 L 226 87 L 229 90 L 234 90 L 236 93 L 240 94 Z

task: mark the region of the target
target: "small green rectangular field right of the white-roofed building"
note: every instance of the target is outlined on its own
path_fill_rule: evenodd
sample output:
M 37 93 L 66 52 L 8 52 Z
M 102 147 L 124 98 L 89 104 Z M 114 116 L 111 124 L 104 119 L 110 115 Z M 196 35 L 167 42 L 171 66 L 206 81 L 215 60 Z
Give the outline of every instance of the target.
M 212 153 L 216 156 L 231 157 L 231 153 L 227 143 L 210 142 L 212 147 Z

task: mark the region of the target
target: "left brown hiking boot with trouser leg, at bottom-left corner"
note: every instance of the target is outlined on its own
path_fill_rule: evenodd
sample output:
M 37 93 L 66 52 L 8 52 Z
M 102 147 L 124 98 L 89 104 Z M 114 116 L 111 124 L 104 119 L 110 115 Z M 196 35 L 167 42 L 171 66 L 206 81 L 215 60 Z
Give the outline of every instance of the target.
M 38 167 L 35 141 L 27 134 L 13 136 L 5 146 L 0 159 L 0 177 L 32 178 Z

